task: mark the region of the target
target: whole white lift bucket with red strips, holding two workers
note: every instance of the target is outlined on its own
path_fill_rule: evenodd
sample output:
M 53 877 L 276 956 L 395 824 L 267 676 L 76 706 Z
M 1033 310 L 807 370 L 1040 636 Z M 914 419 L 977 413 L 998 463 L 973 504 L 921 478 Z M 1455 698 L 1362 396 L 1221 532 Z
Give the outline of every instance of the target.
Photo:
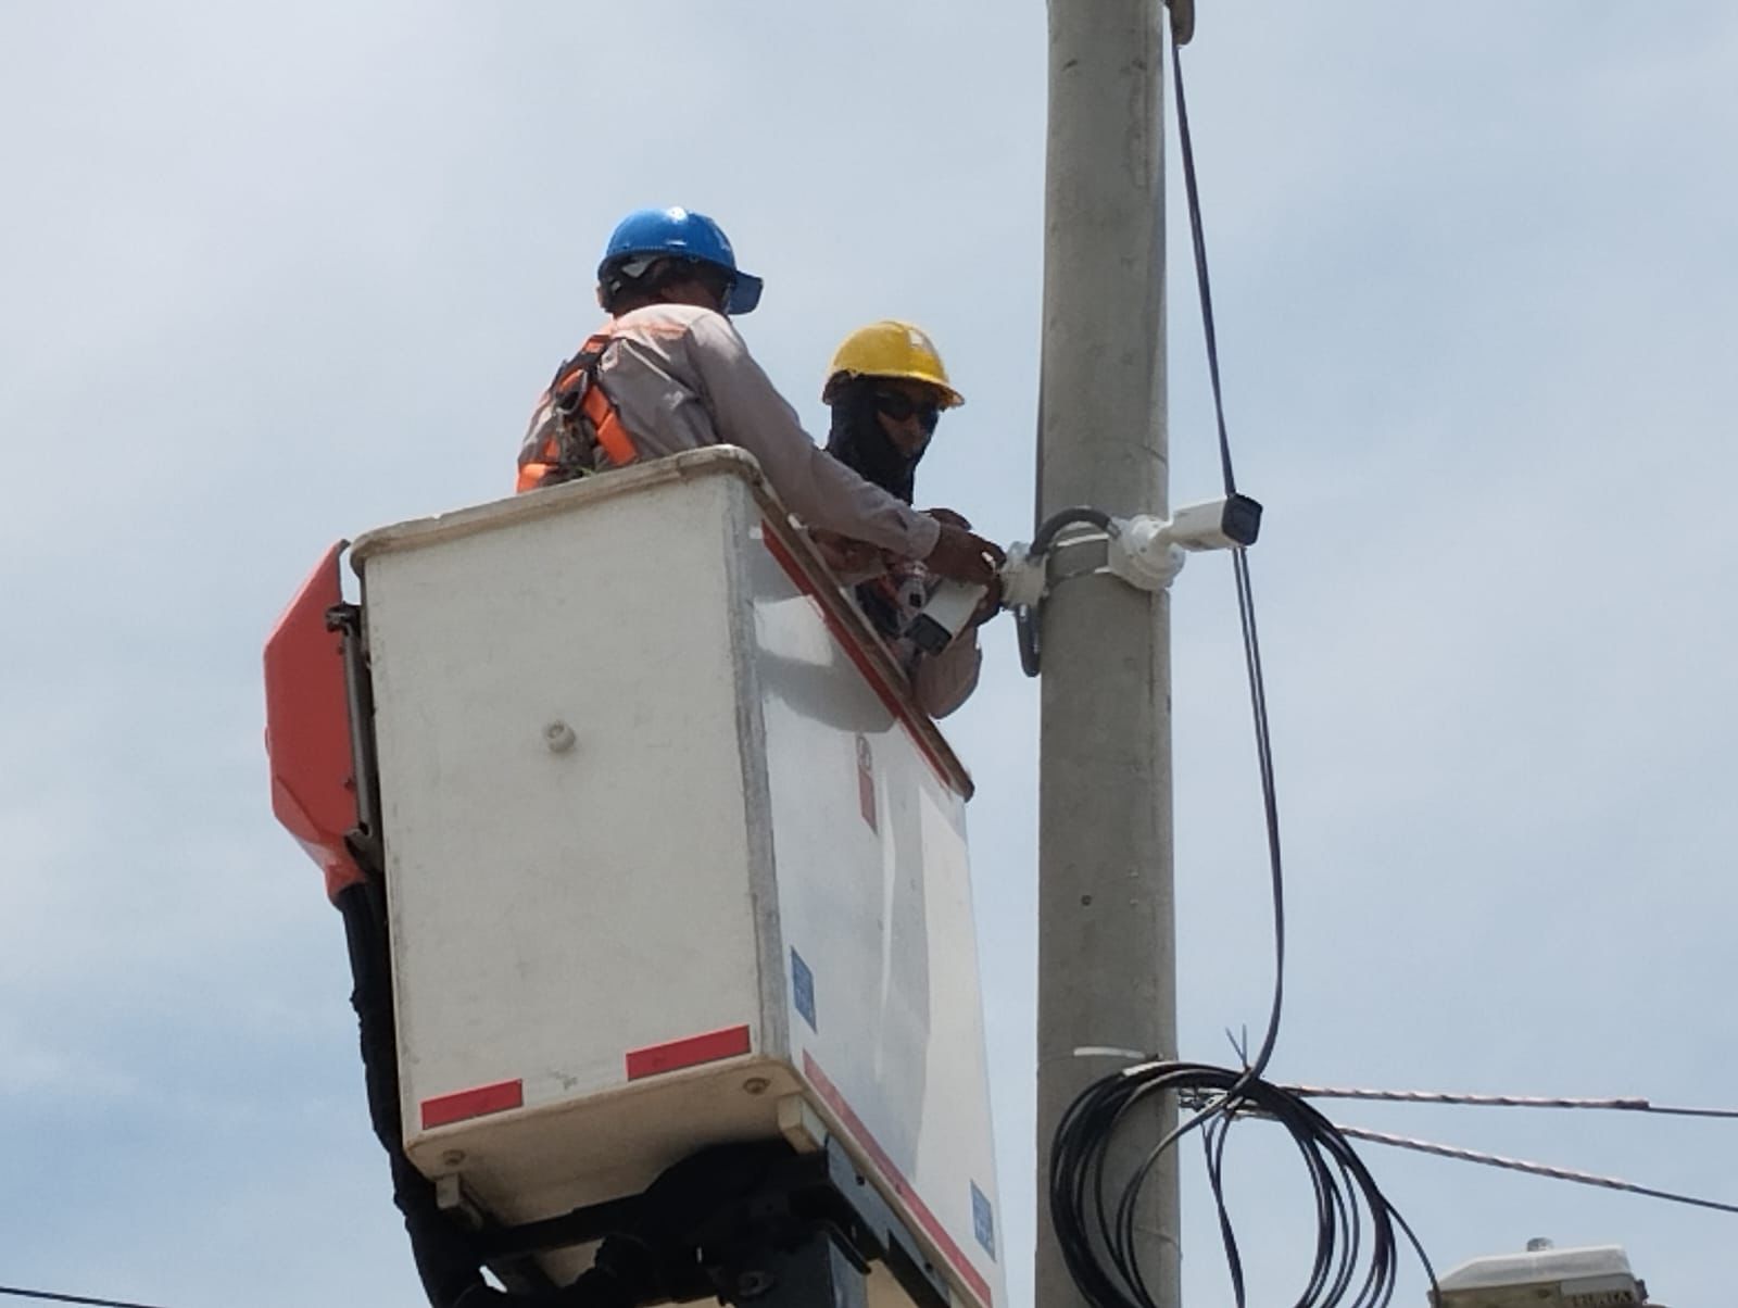
M 970 779 L 753 459 L 353 560 L 415 1165 L 516 1225 L 782 1117 L 845 1146 L 958 1303 L 1005 1303 Z

